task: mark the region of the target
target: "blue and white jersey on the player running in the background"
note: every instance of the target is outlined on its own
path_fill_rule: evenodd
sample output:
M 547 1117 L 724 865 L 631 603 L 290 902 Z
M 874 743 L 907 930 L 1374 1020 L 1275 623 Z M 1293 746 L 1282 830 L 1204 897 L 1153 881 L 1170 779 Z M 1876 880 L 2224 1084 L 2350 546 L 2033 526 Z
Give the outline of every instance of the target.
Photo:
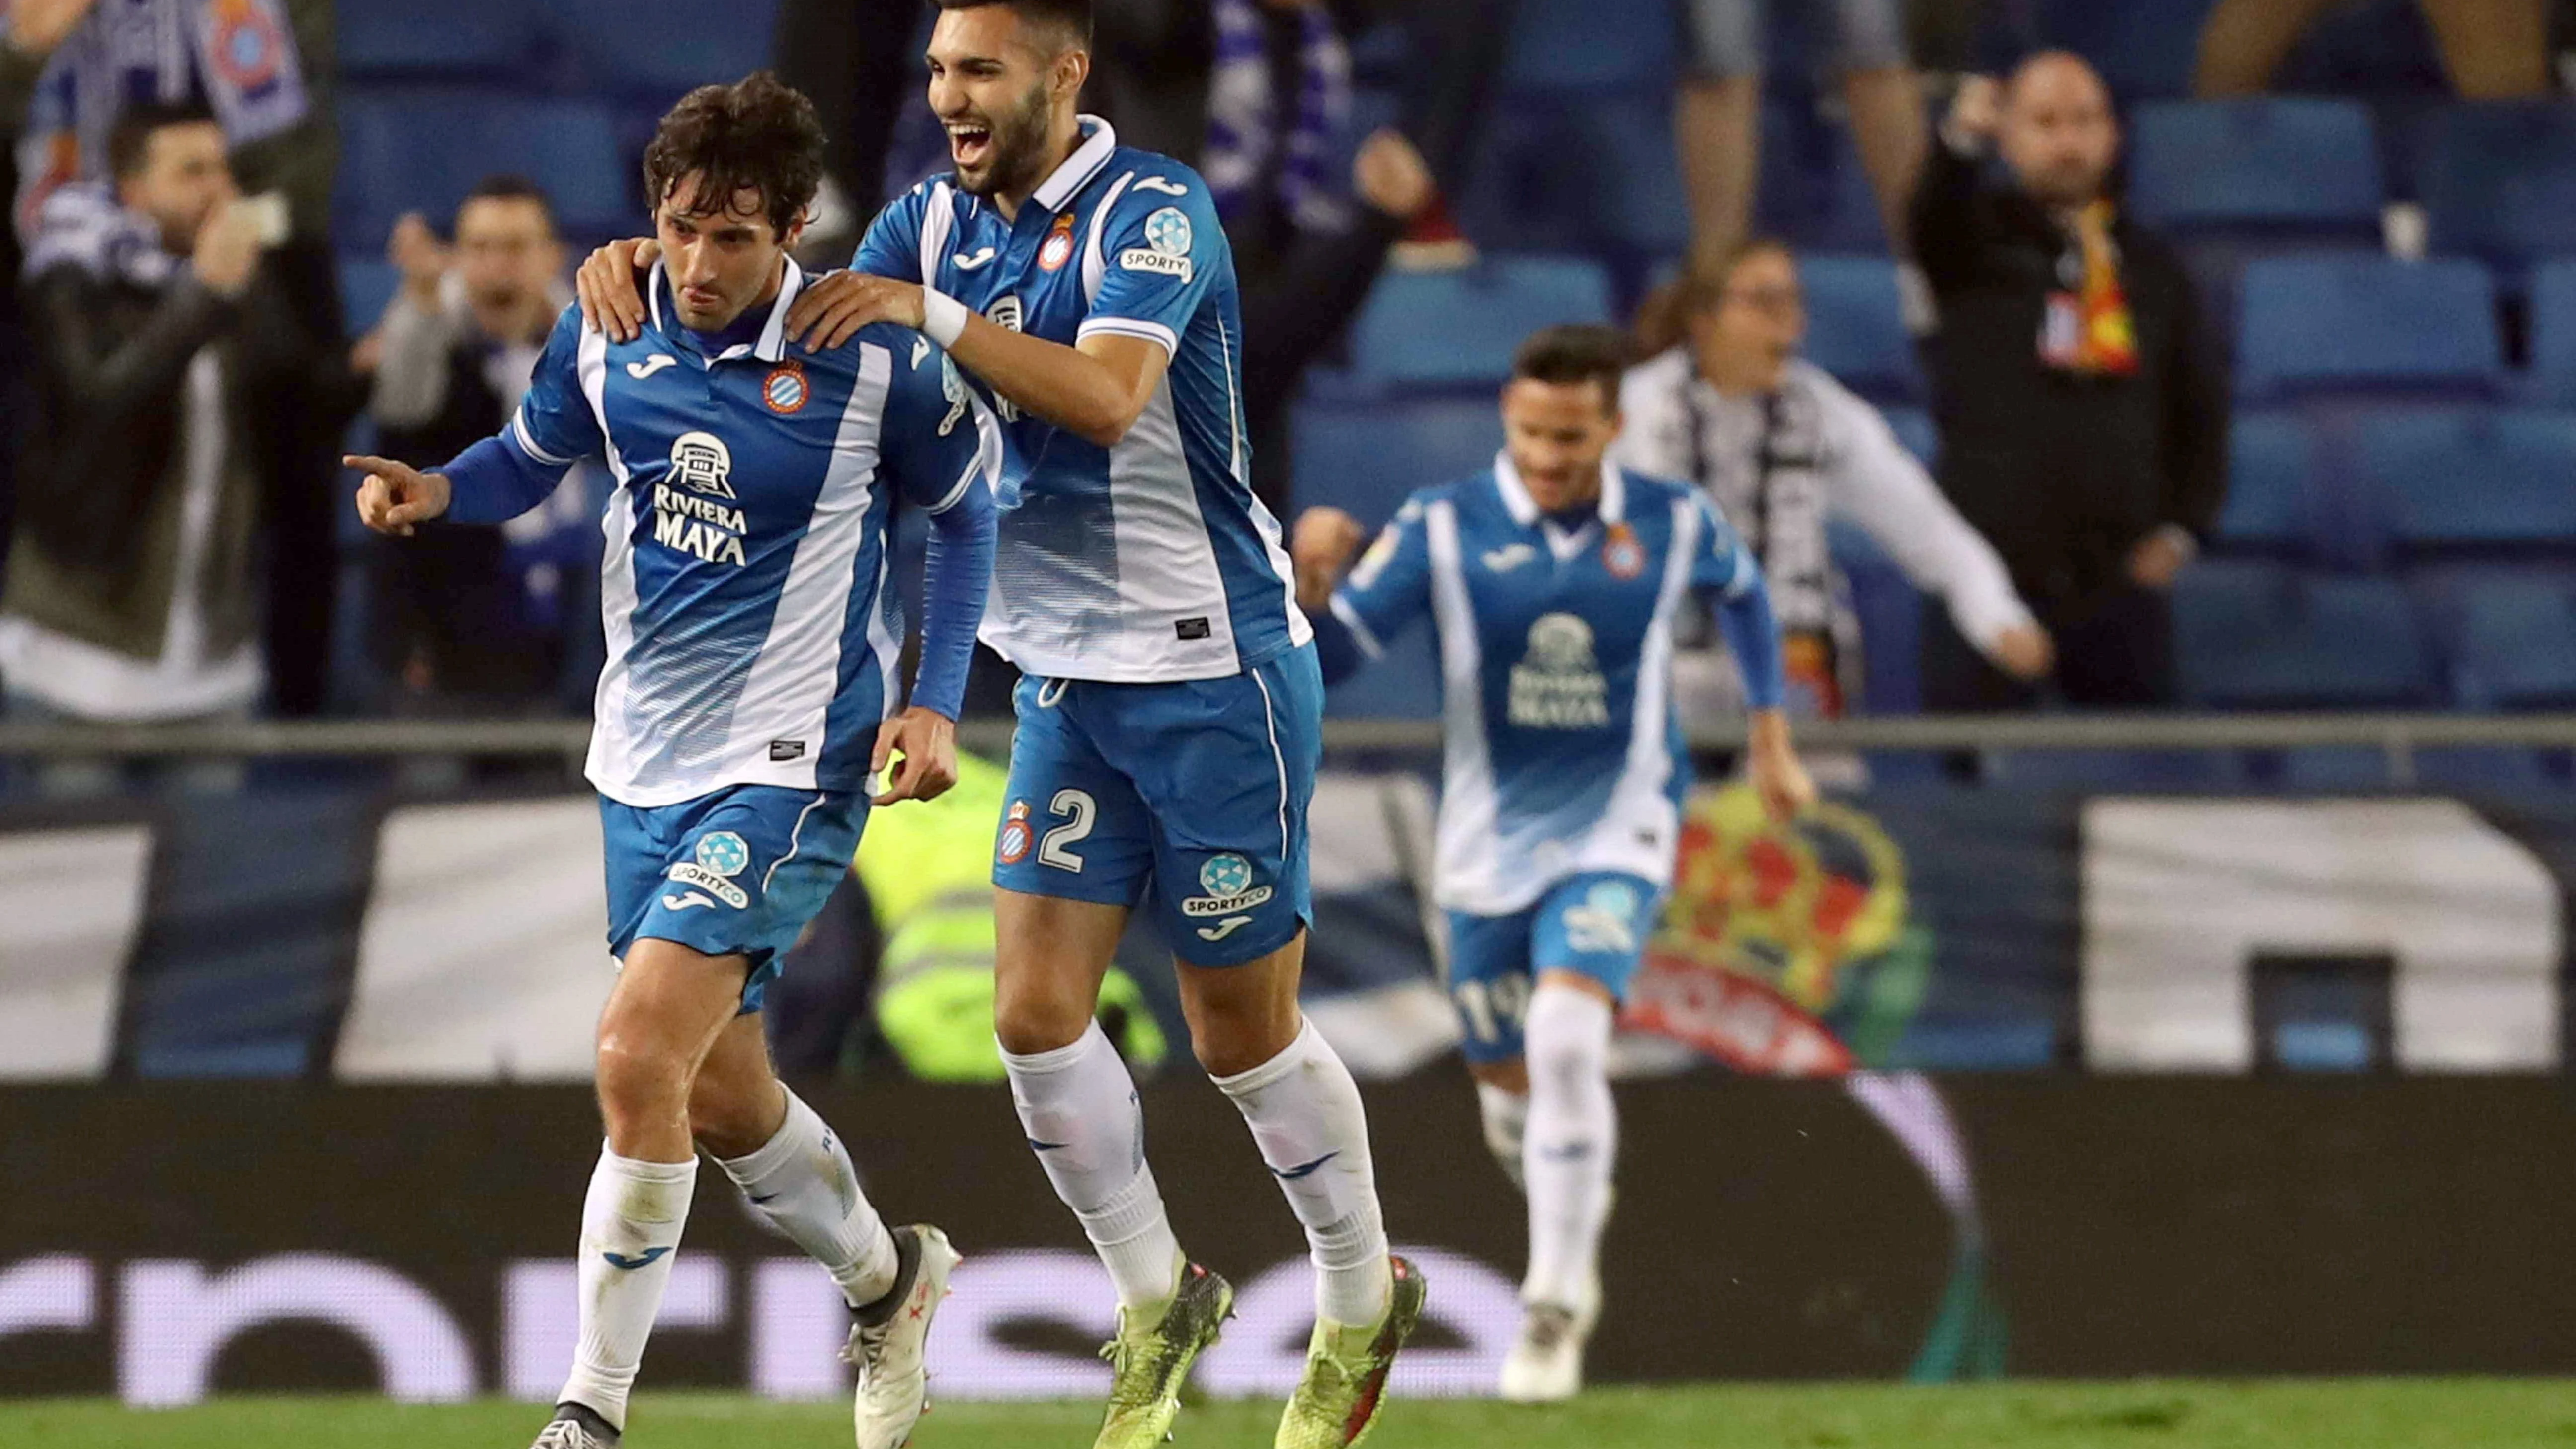
M 1507 915 L 1584 871 L 1672 882 L 1690 753 L 1674 614 L 1762 570 L 1687 485 L 1602 467 L 1595 518 L 1543 516 L 1510 456 L 1417 490 L 1332 596 L 1360 652 L 1440 632 L 1445 771 L 1435 897 Z

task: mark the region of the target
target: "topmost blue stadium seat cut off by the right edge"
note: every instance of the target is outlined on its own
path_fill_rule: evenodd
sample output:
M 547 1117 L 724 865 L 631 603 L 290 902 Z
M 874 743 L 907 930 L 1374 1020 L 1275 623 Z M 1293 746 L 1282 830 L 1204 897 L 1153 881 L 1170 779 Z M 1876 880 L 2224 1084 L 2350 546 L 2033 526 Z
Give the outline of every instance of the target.
M 2576 106 L 2455 106 L 2432 121 L 2424 211 L 2437 253 L 2519 268 L 2576 253 Z

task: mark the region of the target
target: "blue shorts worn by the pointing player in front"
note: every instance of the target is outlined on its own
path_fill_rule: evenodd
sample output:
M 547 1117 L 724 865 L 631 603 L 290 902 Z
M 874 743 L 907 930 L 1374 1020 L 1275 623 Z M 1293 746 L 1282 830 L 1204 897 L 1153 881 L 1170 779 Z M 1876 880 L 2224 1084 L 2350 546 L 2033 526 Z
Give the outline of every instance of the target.
M 850 869 L 868 797 L 842 789 L 732 784 L 680 804 L 600 797 L 608 846 L 608 954 L 641 936 L 708 957 L 750 957 L 742 1011 Z

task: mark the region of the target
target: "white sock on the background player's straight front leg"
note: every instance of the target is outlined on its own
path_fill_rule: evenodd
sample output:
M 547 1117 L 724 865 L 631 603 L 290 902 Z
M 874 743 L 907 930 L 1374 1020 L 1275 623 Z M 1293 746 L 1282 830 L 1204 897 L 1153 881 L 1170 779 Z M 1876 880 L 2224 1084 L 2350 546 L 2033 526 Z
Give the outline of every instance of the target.
M 1530 1274 L 1522 1302 L 1589 1310 L 1618 1106 L 1610 1098 L 1610 1003 L 1540 985 L 1522 1021 L 1530 1065 L 1530 1132 L 1520 1171 L 1530 1194 Z

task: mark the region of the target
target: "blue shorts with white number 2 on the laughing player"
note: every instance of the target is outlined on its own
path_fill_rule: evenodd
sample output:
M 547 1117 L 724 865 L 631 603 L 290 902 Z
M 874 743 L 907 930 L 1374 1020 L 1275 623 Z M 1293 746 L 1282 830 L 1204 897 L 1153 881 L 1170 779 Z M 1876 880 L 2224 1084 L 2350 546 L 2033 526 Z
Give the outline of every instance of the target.
M 1023 678 L 992 882 L 1136 908 L 1172 954 L 1236 967 L 1314 915 L 1306 799 L 1324 753 L 1314 645 L 1229 678 Z

